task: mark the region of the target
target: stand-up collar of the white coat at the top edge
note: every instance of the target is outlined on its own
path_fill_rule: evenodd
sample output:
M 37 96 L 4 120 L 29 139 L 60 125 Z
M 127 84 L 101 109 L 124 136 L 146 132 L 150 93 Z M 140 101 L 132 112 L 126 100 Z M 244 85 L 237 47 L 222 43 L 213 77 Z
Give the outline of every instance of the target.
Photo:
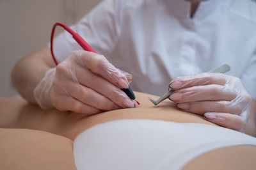
M 191 3 L 185 0 L 162 0 L 166 6 L 166 10 L 177 15 L 181 19 L 190 19 Z M 232 0 L 206 0 L 200 2 L 198 9 L 195 12 L 193 20 L 204 19 L 210 15 L 218 6 L 228 6 Z

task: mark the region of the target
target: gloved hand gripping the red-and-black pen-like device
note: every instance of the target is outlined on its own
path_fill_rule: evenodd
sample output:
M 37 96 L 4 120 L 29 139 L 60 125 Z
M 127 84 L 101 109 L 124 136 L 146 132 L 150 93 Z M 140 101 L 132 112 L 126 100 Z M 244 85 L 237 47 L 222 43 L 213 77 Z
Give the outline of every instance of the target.
M 128 88 L 132 75 L 111 65 L 99 54 L 76 50 L 56 68 L 48 70 L 34 90 L 43 109 L 96 114 L 134 107 L 120 88 Z

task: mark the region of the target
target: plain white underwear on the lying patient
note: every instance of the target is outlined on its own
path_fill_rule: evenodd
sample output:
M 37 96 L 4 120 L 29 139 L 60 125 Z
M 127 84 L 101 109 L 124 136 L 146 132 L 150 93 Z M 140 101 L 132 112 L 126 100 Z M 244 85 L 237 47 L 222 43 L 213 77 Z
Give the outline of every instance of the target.
M 256 138 L 228 128 L 158 120 L 118 120 L 95 125 L 74 141 L 82 169 L 182 169 L 207 151 Z

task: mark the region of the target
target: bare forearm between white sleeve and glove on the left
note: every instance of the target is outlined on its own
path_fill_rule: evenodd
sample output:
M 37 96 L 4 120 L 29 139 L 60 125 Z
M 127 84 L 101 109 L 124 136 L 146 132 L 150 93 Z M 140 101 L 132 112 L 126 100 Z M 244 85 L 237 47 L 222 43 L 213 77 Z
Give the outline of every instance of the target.
M 35 103 L 33 91 L 44 77 L 45 72 L 54 66 L 51 53 L 47 47 L 35 54 L 22 58 L 12 70 L 12 84 L 20 95 Z

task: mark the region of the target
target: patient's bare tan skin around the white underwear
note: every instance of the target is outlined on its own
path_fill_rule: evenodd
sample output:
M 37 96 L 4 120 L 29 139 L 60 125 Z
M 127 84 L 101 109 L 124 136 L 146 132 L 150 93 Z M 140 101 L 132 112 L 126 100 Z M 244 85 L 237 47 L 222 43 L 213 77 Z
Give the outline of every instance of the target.
M 202 116 L 179 111 L 170 100 L 154 106 L 147 100 L 148 96 L 157 98 L 136 93 L 138 100 L 143 103 L 140 107 L 93 116 L 56 109 L 43 111 L 25 100 L 0 98 L 1 167 L 22 170 L 28 169 L 29 165 L 31 169 L 76 169 L 72 153 L 74 139 L 84 130 L 107 121 L 147 119 L 215 126 Z M 215 135 L 218 137 L 218 134 Z M 256 157 L 256 146 L 228 146 L 199 155 L 182 169 L 255 169 L 253 157 Z

